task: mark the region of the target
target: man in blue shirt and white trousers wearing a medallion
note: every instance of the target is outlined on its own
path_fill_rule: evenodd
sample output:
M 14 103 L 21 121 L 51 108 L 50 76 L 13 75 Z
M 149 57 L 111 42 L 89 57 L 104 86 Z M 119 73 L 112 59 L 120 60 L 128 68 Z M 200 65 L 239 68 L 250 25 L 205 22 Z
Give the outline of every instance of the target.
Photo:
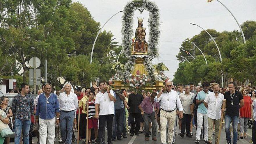
M 51 84 L 45 84 L 45 93 L 39 95 L 35 115 L 35 123 L 39 121 L 40 125 L 40 144 L 46 144 L 47 135 L 47 143 L 54 144 L 55 115 L 57 116 L 56 125 L 58 125 L 60 122 L 60 105 L 57 95 L 51 93 Z

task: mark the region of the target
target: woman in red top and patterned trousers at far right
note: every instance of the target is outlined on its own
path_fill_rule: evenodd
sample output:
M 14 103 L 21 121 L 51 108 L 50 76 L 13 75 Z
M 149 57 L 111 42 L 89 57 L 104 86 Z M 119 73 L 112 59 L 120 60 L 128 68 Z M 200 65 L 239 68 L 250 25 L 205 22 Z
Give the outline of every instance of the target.
M 248 96 L 248 91 L 246 88 L 242 88 L 241 93 L 243 94 L 244 106 L 240 108 L 239 122 L 240 122 L 240 138 L 248 138 L 246 136 L 247 132 L 247 123 L 250 118 L 253 117 L 253 106 L 252 99 Z

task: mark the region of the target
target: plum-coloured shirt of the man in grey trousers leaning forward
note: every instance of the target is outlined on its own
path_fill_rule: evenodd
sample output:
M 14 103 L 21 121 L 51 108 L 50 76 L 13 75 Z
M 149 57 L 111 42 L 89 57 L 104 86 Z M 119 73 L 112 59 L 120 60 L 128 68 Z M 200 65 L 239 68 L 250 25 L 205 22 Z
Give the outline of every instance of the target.
M 143 99 L 142 103 L 140 104 L 144 113 L 151 114 L 154 112 L 155 108 L 160 109 L 159 102 L 151 102 L 151 97 L 146 97 Z

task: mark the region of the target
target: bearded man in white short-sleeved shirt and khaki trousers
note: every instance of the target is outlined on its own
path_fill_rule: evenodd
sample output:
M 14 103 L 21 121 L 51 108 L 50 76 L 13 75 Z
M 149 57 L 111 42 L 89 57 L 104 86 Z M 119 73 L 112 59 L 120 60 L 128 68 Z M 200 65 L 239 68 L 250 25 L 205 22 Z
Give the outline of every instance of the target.
M 206 95 L 204 102 L 205 107 L 208 109 L 208 144 L 212 143 L 213 126 L 215 126 L 215 143 L 217 143 L 218 141 L 218 133 L 221 119 L 221 106 L 224 99 L 224 95 L 219 93 L 220 85 L 218 83 L 214 83 L 211 88 L 213 89 L 214 93 L 209 93 L 208 95 Z

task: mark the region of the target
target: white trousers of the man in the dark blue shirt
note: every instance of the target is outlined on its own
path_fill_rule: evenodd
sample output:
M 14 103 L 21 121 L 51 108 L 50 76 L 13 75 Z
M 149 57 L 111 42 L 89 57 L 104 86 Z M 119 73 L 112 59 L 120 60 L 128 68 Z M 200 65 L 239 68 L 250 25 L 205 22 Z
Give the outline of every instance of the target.
M 47 143 L 54 144 L 55 137 L 55 118 L 41 119 L 39 118 L 39 134 L 40 144 L 46 144 L 46 137 L 48 136 Z M 47 133 L 48 131 L 48 133 Z

